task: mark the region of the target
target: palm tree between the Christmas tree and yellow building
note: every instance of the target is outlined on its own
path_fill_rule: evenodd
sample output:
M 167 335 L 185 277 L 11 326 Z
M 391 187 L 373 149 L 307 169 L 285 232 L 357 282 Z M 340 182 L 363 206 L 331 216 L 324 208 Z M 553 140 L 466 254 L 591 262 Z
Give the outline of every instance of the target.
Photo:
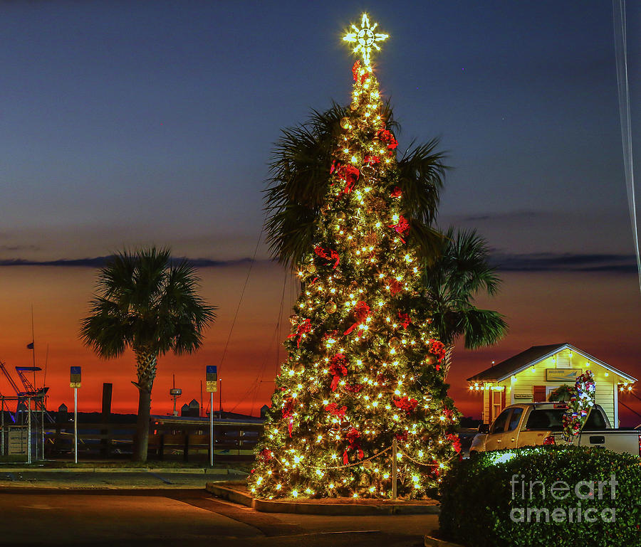
M 449 228 L 439 256 L 425 266 L 424 285 L 434 309 L 432 326 L 447 349 L 443 363 L 446 377 L 459 336 L 464 336 L 466 349 L 476 349 L 496 344 L 507 332 L 503 315 L 474 306 L 477 293 L 493 295 L 501 285 L 488 255 L 487 242 L 476 230 L 454 233 L 454 228 Z

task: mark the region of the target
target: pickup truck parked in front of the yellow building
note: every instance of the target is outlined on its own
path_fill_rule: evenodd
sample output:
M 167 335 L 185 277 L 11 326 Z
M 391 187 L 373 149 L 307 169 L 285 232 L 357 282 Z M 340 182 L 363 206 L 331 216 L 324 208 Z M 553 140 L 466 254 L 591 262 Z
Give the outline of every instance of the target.
M 505 448 L 533 445 L 566 445 L 563 439 L 564 403 L 521 403 L 509 405 L 488 427 L 479 426 L 470 455 Z M 602 446 L 613 452 L 641 456 L 641 431 L 612 429 L 603 408 L 595 405 L 573 445 Z

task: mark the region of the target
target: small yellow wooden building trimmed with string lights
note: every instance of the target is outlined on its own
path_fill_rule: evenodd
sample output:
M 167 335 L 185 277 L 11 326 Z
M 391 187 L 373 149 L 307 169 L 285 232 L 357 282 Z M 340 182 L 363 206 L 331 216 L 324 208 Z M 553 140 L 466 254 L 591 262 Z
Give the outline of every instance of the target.
M 618 427 L 619 391 L 631 388 L 636 378 L 572 344 L 532 346 L 467 381 L 470 391 L 482 393 L 484 423 L 492 423 L 506 405 L 546 401 L 551 391 L 563 384 L 573 386 L 586 370 L 594 374 L 596 403 L 608 414 L 612 426 Z

